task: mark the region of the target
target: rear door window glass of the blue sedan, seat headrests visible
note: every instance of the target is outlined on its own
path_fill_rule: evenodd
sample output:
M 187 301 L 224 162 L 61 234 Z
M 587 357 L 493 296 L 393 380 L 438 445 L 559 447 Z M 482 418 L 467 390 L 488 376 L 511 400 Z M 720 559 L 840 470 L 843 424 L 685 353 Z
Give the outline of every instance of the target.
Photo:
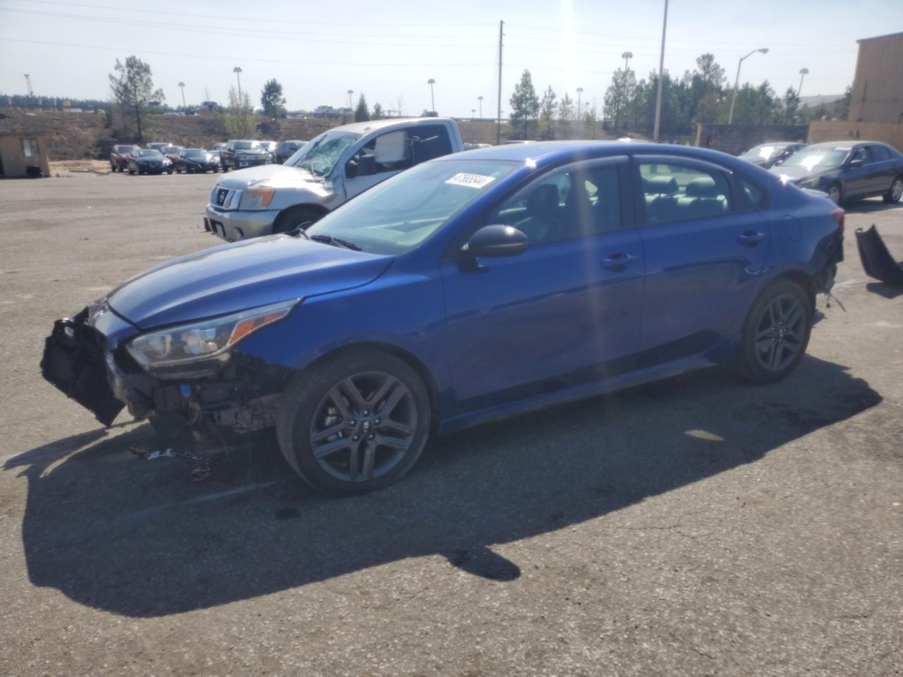
M 731 211 L 731 190 L 721 172 L 676 163 L 640 162 L 646 220 L 672 223 Z

